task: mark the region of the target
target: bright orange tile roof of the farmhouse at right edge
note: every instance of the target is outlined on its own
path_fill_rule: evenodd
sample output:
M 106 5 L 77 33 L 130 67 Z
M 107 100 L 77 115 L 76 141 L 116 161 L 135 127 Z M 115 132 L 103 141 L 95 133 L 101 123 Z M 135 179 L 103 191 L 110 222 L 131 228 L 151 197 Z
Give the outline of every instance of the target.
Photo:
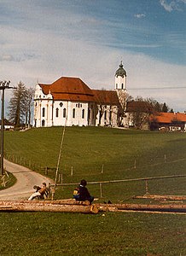
M 186 122 L 186 113 L 158 113 L 152 116 L 158 123 L 169 124 L 172 121 Z

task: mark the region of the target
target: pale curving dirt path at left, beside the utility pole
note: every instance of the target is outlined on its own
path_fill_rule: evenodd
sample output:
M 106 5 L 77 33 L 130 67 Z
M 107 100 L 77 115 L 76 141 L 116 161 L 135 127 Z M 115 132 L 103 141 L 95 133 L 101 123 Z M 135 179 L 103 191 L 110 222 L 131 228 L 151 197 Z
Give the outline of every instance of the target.
M 19 166 L 14 163 L 4 160 L 4 167 L 8 172 L 12 172 L 17 182 L 14 186 L 9 189 L 0 190 L 0 200 L 23 200 L 27 199 L 31 195 L 33 190 L 33 185 L 41 185 L 42 183 L 52 183 L 52 180 L 48 177 L 44 177 L 37 172 Z

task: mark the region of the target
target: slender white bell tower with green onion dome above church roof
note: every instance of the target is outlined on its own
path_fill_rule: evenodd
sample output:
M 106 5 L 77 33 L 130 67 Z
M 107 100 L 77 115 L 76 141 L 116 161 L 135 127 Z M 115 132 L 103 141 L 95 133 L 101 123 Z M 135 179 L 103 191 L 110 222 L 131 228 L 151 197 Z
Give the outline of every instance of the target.
M 126 90 L 126 71 L 122 61 L 115 73 L 115 90 Z

